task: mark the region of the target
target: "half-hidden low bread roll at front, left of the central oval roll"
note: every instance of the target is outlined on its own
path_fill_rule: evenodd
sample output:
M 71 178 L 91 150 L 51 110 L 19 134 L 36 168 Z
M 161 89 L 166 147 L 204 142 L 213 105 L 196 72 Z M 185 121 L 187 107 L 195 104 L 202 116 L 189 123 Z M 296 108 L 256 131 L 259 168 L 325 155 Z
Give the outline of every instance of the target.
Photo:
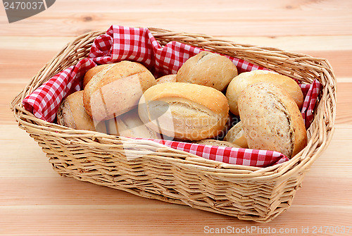
M 138 109 L 127 111 L 122 115 L 106 120 L 106 133 L 108 135 L 119 135 L 124 137 L 142 137 L 150 139 L 161 139 L 161 135 L 142 122 L 138 115 Z

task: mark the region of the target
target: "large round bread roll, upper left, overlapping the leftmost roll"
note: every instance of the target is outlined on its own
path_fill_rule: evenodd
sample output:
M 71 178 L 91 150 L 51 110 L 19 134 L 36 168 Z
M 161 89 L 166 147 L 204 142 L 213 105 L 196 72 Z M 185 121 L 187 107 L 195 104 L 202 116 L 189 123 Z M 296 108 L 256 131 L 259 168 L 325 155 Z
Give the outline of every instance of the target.
M 155 77 L 142 64 L 121 61 L 96 73 L 84 87 L 84 108 L 97 122 L 108 120 L 135 108 L 153 85 Z

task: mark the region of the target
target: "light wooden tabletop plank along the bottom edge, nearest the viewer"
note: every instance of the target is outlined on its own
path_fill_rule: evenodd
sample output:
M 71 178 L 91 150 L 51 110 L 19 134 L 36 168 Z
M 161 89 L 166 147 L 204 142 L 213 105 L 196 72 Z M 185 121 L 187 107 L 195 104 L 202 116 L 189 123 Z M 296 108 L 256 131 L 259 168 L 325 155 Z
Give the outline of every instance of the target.
M 155 205 L 145 205 L 139 208 L 115 209 L 108 208 L 92 209 L 81 206 L 46 206 L 22 209 L 4 209 L 7 218 L 4 226 L 1 225 L 0 233 L 8 235 L 205 235 L 210 229 L 221 230 L 230 226 L 234 228 L 251 228 L 248 235 L 263 235 L 270 227 L 277 230 L 276 233 L 265 233 L 265 235 L 305 235 L 303 228 L 308 227 L 310 235 L 313 235 L 313 225 L 320 226 L 343 226 L 349 225 L 351 221 L 351 208 L 337 206 L 292 206 L 289 212 L 282 213 L 277 221 L 260 224 L 238 221 L 235 218 L 215 216 L 213 213 L 206 213 L 194 209 L 187 209 L 179 206 L 177 209 L 158 209 Z M 309 218 L 306 218 L 307 214 Z M 82 217 L 84 216 L 84 217 Z M 326 216 L 326 217 L 322 217 Z M 151 223 L 153 221 L 153 223 Z M 287 229 L 288 233 L 280 233 L 279 229 Z M 289 230 L 292 229 L 292 230 Z M 260 231 L 261 230 L 261 231 Z M 325 233 L 318 235 L 337 235 Z M 346 230 L 347 231 L 347 230 Z M 223 231 L 224 232 L 224 231 Z M 232 231 L 230 231 L 232 232 Z M 229 232 L 229 234 L 230 234 Z M 245 231 L 244 231 L 245 232 Z M 271 232 L 271 231 L 270 231 Z M 283 231 L 285 232 L 285 231 Z M 291 233 L 290 233 L 291 232 Z M 220 231 L 218 232 L 218 234 Z M 315 228 L 315 233 L 318 229 Z

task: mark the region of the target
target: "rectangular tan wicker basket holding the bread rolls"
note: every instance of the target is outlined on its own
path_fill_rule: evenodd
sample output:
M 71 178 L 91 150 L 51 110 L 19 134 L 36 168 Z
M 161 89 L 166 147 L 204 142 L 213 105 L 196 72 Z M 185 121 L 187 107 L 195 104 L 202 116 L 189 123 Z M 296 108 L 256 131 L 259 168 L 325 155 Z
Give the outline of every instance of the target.
M 237 166 L 202 159 L 148 140 L 65 128 L 35 118 L 23 108 L 22 101 L 28 94 L 86 57 L 94 39 L 105 31 L 89 32 L 70 42 L 13 99 L 12 108 L 20 128 L 38 142 L 60 175 L 243 220 L 268 222 L 286 211 L 304 174 L 327 147 L 334 131 L 335 77 L 327 60 L 206 35 L 149 30 L 161 45 L 178 41 L 244 59 L 303 83 L 318 79 L 322 91 L 308 129 L 307 147 L 291 160 L 275 166 Z M 124 149 L 122 144 L 130 149 Z M 142 157 L 127 161 L 125 155 L 129 151 Z

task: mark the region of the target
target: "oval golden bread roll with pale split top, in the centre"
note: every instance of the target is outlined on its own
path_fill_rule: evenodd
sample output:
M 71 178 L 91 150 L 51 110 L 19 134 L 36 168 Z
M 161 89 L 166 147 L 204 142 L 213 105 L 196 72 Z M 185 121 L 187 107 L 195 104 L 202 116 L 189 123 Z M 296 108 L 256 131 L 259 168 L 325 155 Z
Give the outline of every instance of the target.
M 229 106 L 222 92 L 203 85 L 167 82 L 144 92 L 139 117 L 152 130 L 184 140 L 210 139 L 227 122 Z

